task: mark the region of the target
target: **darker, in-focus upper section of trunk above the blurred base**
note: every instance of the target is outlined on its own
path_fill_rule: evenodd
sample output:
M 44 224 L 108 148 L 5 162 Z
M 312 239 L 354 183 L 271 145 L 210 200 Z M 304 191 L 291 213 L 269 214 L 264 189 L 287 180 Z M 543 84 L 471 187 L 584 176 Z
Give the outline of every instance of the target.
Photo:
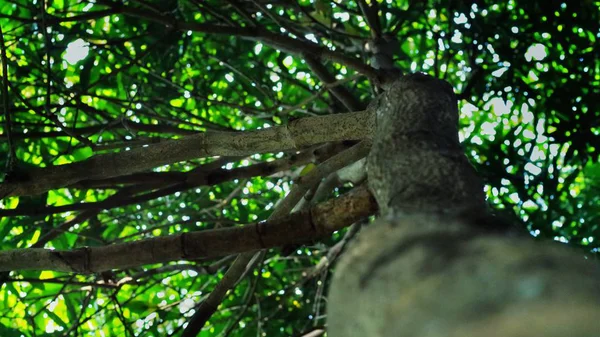
M 458 141 L 456 97 L 447 82 L 405 76 L 369 108 L 377 131 L 367 170 L 382 213 L 483 205 L 481 181 Z

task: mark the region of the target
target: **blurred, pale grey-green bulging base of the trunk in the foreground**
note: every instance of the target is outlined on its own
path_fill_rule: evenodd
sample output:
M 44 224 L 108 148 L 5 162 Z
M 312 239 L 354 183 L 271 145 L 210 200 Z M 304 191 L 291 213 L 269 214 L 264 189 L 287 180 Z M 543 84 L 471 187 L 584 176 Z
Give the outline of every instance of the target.
M 598 266 L 558 244 L 414 215 L 359 234 L 330 288 L 331 337 L 597 336 Z

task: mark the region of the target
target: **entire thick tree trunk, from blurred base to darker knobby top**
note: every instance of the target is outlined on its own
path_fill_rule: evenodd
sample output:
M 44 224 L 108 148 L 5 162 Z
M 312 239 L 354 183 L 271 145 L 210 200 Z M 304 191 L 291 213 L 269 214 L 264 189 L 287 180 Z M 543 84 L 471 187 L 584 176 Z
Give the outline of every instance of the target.
M 600 333 L 598 265 L 488 214 L 448 83 L 405 76 L 371 108 L 369 187 L 382 216 L 337 266 L 329 336 Z

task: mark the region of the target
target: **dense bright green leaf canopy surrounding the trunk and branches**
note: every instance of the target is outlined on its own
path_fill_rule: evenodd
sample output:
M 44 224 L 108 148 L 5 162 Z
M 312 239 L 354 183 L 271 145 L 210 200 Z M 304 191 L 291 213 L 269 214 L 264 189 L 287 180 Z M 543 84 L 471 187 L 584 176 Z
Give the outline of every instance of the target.
M 2 104 L 12 117 L 17 171 L 364 108 L 375 95 L 367 77 L 322 61 L 328 81 L 348 79 L 342 102 L 322 90 L 325 79 L 305 62 L 316 55 L 302 48 L 317 42 L 368 63 L 373 30 L 358 2 L 0 0 L 9 92 Z M 599 13 L 590 0 L 379 4 L 383 32 L 399 41 L 396 66 L 454 86 L 461 139 L 490 204 L 534 236 L 582 246 L 590 257 L 600 247 Z M 235 29 L 200 31 L 193 22 Z M 263 30 L 298 44 L 277 45 L 257 34 Z M 6 114 L 0 118 L 4 167 Z M 169 179 L 210 163 L 231 170 L 288 155 L 191 160 L 157 167 L 162 175 L 147 179 L 8 197 L 1 248 L 71 249 L 265 220 L 304 166 L 213 177 L 209 186 Z M 104 200 L 112 203 L 95 204 Z M 20 215 L 5 216 L 8 209 Z M 289 256 L 270 251 L 202 335 L 291 336 L 324 326 L 330 273 L 316 266 L 342 234 Z M 0 290 L 0 335 L 177 335 L 230 262 L 91 276 L 12 272 Z

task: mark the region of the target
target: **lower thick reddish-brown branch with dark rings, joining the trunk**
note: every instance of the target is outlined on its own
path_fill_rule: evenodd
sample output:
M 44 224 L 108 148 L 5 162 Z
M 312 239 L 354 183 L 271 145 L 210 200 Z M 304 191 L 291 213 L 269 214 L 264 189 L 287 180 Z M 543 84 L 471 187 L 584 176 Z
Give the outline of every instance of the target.
M 0 252 L 0 271 L 98 273 L 145 264 L 246 253 L 324 237 L 373 214 L 376 209 L 371 193 L 362 186 L 310 209 L 243 227 L 181 233 L 74 250 L 5 250 Z

